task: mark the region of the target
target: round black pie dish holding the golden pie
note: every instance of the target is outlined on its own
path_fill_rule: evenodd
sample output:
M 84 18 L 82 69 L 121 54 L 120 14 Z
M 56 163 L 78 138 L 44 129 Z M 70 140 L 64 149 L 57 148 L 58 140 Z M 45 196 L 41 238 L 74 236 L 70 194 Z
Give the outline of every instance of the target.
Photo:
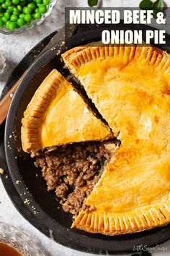
M 146 28 L 147 26 L 143 26 L 143 29 Z M 60 47 L 60 43 L 56 44 L 53 50 L 50 49 L 32 64 L 20 83 L 9 109 L 6 120 L 5 149 L 10 176 L 18 192 L 18 200 L 24 202 L 23 211 L 20 208 L 20 213 L 33 226 L 67 247 L 84 252 L 112 255 L 133 251 L 133 248 L 139 244 L 151 247 L 164 242 L 169 239 L 170 226 L 122 236 L 89 234 L 78 229 L 70 229 L 71 215 L 63 212 L 54 192 L 47 192 L 40 170 L 35 168 L 30 155 L 22 151 L 20 140 L 23 112 L 35 90 L 52 69 L 56 68 L 65 73 L 61 55 L 57 55 L 58 50 L 63 53 L 68 48 L 100 40 L 102 29 L 74 35 L 66 40 L 65 46 Z M 169 38 L 168 35 L 167 38 Z

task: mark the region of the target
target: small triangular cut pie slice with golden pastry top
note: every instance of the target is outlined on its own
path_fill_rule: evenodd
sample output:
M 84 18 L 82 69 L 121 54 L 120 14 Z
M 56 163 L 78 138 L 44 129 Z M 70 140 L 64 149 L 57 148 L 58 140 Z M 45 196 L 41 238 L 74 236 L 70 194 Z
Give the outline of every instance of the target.
M 109 137 L 109 127 L 94 116 L 71 83 L 56 70 L 37 89 L 22 119 L 22 148 L 27 153 Z

